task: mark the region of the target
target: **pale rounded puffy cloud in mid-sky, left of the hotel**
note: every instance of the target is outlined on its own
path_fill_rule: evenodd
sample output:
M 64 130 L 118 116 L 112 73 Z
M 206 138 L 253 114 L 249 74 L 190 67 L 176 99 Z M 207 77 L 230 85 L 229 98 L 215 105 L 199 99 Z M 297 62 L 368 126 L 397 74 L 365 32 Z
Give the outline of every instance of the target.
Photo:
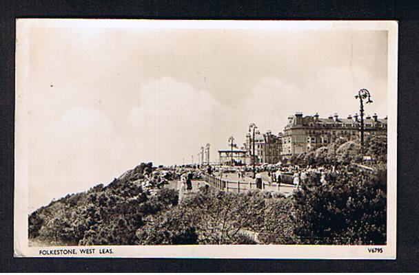
M 190 162 L 191 155 L 214 135 L 221 105 L 207 91 L 163 77 L 141 87 L 130 111 L 138 154 L 162 164 Z M 195 156 L 196 157 L 196 156 Z

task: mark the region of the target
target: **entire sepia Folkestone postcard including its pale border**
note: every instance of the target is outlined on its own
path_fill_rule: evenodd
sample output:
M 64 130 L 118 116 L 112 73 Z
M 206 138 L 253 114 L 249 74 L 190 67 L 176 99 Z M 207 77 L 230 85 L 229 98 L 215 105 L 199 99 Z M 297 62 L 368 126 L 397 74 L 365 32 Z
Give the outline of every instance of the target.
M 396 21 L 17 19 L 14 256 L 396 259 Z

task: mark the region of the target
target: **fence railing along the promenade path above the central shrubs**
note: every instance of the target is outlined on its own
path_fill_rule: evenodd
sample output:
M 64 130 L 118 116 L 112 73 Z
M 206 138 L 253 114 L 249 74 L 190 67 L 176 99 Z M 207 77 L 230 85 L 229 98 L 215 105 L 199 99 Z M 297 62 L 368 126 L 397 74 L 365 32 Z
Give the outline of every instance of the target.
M 210 184 L 212 187 L 217 188 L 218 190 L 225 190 L 225 192 L 243 192 L 252 188 L 256 188 L 256 183 L 252 181 L 229 181 L 227 179 L 221 179 L 214 175 L 209 175 L 205 173 L 205 181 Z M 271 192 L 280 190 L 280 183 L 267 184 L 262 182 L 262 190 L 268 190 Z

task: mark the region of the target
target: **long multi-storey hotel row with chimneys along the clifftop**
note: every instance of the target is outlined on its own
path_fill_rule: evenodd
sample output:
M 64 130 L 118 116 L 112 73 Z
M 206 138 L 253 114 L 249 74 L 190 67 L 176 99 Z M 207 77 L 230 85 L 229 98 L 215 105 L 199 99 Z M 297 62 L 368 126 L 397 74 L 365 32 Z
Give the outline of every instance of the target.
M 387 117 L 379 119 L 376 114 L 364 118 L 365 136 L 387 135 Z M 253 136 L 248 133 L 239 155 L 245 164 L 252 164 Z M 339 118 L 337 114 L 328 118 L 319 115 L 295 113 L 288 117 L 283 133 L 275 135 L 270 131 L 255 135 L 255 161 L 258 164 L 276 164 L 292 155 L 305 153 L 311 149 L 327 146 L 336 139 L 356 141 L 360 139 L 360 117 L 349 115 Z M 228 154 L 227 154 L 228 155 Z M 221 159 L 221 155 L 220 155 Z

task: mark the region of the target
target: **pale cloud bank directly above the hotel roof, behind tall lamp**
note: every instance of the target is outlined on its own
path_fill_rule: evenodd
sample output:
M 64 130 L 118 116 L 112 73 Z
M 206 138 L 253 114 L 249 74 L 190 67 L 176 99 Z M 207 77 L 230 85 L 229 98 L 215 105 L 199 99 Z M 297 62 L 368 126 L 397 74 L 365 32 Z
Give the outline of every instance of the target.
M 275 76 L 259 78 L 244 98 L 245 119 L 258 124 L 260 131 L 283 131 L 287 116 L 296 111 L 326 117 L 338 112 L 341 117 L 359 112 L 354 96 L 359 89 L 371 91 L 374 103 L 369 114 L 387 115 L 387 80 L 373 78 L 365 68 L 356 66 L 324 67 L 314 78 L 293 84 Z

